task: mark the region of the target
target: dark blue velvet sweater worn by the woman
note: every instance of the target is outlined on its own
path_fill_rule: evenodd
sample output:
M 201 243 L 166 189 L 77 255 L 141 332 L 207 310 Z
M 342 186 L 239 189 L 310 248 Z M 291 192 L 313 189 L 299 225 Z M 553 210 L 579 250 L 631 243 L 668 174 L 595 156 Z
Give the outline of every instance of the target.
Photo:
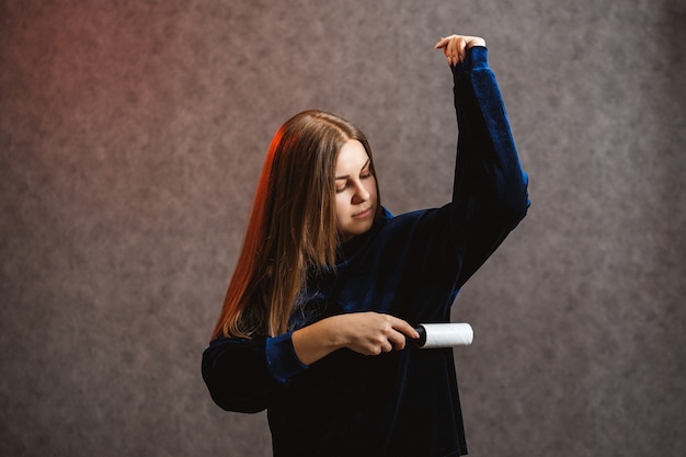
M 453 76 L 453 201 L 396 217 L 386 212 L 343 244 L 336 269 L 308 282 L 293 330 L 369 310 L 412 324 L 449 321 L 460 287 L 525 216 L 528 179 L 487 48 L 469 49 Z M 451 350 L 339 350 L 306 366 L 290 336 L 219 338 L 203 354 L 203 377 L 219 407 L 267 410 L 275 457 L 467 454 Z

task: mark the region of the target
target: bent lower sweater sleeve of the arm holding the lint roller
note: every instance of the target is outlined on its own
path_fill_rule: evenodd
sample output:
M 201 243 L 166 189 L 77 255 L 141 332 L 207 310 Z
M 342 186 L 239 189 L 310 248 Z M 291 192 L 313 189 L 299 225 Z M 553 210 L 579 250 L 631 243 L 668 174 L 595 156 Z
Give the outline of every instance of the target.
M 214 340 L 203 352 L 202 373 L 215 403 L 248 413 L 267 408 L 273 396 L 307 368 L 290 335 Z

